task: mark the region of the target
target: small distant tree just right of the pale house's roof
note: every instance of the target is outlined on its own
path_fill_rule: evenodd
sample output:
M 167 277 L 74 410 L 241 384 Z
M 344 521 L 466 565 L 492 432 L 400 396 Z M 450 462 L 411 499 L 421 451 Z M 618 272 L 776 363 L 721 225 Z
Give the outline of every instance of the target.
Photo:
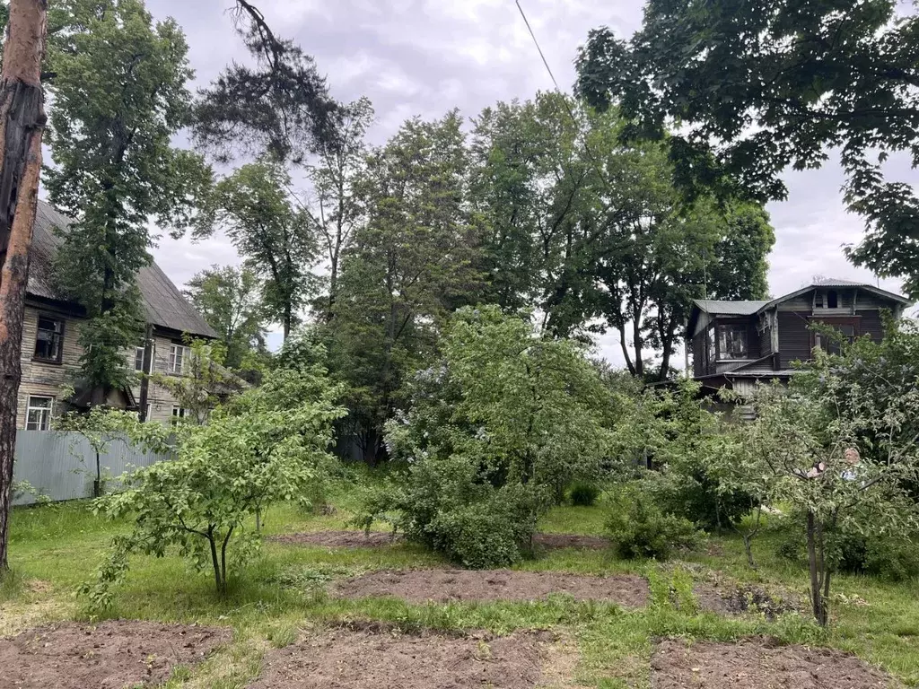
M 188 280 L 185 295 L 223 344 L 223 364 L 242 368 L 246 355 L 265 349 L 261 280 L 252 268 L 211 265 Z

